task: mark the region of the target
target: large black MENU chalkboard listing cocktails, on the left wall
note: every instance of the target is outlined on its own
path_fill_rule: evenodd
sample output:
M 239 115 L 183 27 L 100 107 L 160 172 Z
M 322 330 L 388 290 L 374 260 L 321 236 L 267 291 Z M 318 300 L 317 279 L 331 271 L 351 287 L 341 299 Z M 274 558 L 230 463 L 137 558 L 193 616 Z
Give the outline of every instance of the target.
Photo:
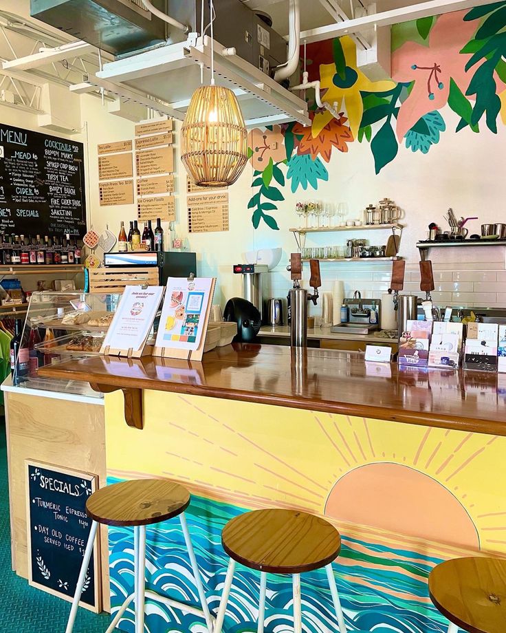
M 83 143 L 0 124 L 0 230 L 85 235 Z

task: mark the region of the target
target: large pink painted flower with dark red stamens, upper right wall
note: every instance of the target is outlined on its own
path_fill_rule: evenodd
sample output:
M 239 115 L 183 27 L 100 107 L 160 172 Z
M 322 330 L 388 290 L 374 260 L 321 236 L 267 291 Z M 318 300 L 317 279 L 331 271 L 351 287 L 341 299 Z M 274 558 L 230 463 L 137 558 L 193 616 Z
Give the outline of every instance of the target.
M 428 112 L 439 110 L 448 101 L 450 78 L 465 94 L 474 74 L 465 72 L 471 54 L 461 53 L 472 39 L 476 23 L 465 22 L 466 11 L 441 15 L 430 31 L 428 46 L 406 42 L 392 55 L 392 78 L 398 82 L 415 81 L 397 116 L 397 138 Z

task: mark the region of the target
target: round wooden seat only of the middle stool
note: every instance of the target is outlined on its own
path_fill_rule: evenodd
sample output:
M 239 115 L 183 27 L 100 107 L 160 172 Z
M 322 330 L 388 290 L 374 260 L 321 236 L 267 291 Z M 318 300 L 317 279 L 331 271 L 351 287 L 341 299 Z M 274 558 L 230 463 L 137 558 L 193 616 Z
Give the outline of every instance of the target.
M 330 564 L 341 537 L 329 522 L 294 510 L 256 510 L 223 528 L 225 552 L 246 567 L 272 574 L 300 574 Z

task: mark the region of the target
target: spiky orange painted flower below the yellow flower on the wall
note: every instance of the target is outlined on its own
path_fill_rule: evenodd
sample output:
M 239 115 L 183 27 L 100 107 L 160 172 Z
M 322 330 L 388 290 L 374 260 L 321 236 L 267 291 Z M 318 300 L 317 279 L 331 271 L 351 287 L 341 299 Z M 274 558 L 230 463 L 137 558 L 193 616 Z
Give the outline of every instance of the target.
M 344 125 L 347 120 L 342 113 L 338 119 L 332 117 L 316 136 L 313 136 L 312 127 L 303 127 L 297 123 L 294 126 L 294 134 L 302 136 L 298 141 L 297 153 L 311 154 L 313 160 L 320 155 L 325 162 L 329 162 L 333 147 L 339 151 L 348 151 L 348 143 L 353 141 L 353 134 L 351 129 Z

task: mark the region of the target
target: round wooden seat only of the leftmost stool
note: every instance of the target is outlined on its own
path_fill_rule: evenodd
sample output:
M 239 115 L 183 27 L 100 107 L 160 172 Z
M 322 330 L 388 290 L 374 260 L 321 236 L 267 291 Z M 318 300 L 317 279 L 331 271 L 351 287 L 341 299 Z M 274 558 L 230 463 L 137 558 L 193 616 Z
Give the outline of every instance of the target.
M 190 493 L 163 479 L 141 479 L 105 486 L 86 502 L 88 515 L 111 526 L 143 526 L 177 517 L 190 504 Z

